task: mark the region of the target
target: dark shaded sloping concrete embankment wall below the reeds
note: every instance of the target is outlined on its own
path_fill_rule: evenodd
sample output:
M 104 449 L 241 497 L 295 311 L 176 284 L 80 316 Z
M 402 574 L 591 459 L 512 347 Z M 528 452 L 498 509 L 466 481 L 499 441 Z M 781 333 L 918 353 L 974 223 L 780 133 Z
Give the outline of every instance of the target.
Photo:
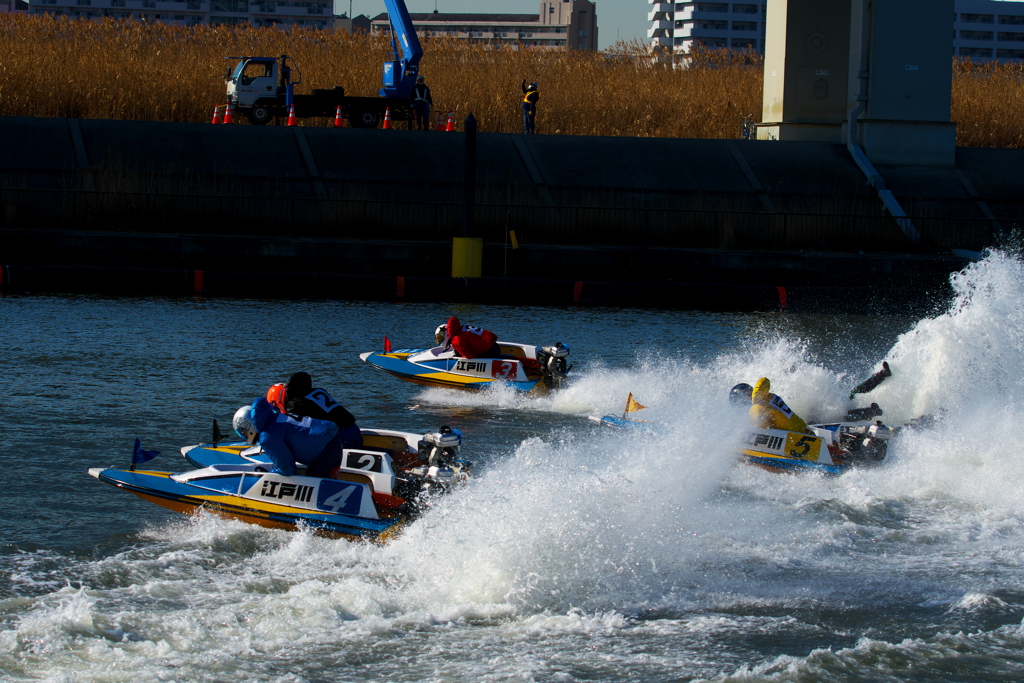
M 0 263 L 8 289 L 29 265 L 444 279 L 464 138 L 0 118 Z M 962 148 L 955 168 L 881 169 L 911 245 L 842 145 L 480 134 L 470 237 L 485 278 L 567 283 L 570 302 L 623 282 L 763 286 L 776 305 L 777 287 L 928 290 L 963 266 L 950 249 L 1024 220 L 1021 161 Z

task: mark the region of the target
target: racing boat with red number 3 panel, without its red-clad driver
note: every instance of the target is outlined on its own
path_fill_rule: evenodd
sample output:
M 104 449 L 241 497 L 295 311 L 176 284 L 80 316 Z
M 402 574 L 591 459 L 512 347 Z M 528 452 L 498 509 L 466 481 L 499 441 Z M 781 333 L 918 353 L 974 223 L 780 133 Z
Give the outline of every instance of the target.
M 571 369 L 566 366 L 569 347 L 561 343 L 531 346 L 499 341 L 497 345 L 498 357 L 464 358 L 443 346 L 368 351 L 359 357 L 407 382 L 458 389 L 484 389 L 500 382 L 523 392 L 543 392 L 560 388 Z

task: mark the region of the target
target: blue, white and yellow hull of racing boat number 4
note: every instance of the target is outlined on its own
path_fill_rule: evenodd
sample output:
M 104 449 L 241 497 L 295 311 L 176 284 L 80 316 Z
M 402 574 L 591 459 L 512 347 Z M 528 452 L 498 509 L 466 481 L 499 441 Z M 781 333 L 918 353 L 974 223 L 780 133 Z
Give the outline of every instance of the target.
M 216 466 L 172 474 L 93 468 L 96 479 L 184 514 L 206 510 L 268 528 L 312 528 L 348 539 L 385 541 L 404 521 L 380 517 L 368 486 L 314 477 L 286 477 L 256 466 Z

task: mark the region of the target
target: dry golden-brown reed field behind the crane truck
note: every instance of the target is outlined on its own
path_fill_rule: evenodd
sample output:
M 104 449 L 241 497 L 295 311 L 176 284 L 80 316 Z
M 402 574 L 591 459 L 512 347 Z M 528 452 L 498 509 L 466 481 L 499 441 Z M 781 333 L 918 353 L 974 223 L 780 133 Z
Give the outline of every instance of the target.
M 762 63 L 709 52 L 696 68 L 654 67 L 642 44 L 609 53 L 513 50 L 424 39 L 421 73 L 435 112 L 470 112 L 484 132 L 519 132 L 522 80 L 541 86 L 538 132 L 638 137 L 738 137 L 760 119 Z M 173 27 L 0 15 L 0 115 L 209 122 L 224 101 L 229 56 L 288 54 L 302 85 L 374 95 L 390 56 L 383 37 L 343 31 Z M 953 63 L 957 144 L 1024 146 L 1022 69 Z M 306 120 L 303 125 L 328 125 Z

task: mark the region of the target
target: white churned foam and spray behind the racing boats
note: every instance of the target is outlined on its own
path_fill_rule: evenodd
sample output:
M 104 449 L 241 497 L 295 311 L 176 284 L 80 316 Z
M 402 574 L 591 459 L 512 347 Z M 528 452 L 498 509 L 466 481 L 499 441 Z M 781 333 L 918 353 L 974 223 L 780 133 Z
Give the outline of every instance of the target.
M 954 288 L 947 311 L 894 335 L 893 377 L 856 399 L 890 424 L 942 416 L 902 430 L 879 468 L 829 478 L 736 463 L 735 383 L 767 376 L 827 420 L 863 379 L 859 357 L 829 367 L 816 340 L 782 332 L 711 356 L 593 362 L 544 397 L 426 389 L 425 405 L 557 420 L 383 547 L 202 515 L 97 557 L 19 551 L 4 564 L 16 571 L 0 673 L 899 680 L 969 652 L 984 664 L 948 680 L 1000 680 L 1024 605 L 1024 268 L 992 253 Z M 662 431 L 587 420 L 621 414 L 629 393 L 647 407 L 632 417 Z

